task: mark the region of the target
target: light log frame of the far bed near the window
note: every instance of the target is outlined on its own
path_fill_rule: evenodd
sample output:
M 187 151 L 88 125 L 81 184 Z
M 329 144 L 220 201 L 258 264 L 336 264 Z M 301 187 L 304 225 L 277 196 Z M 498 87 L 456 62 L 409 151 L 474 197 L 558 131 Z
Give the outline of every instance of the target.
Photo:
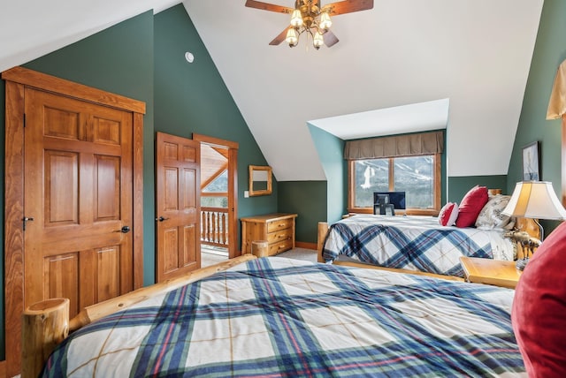
M 327 222 L 319 222 L 318 223 L 318 234 L 317 234 L 317 261 L 318 262 L 325 262 L 325 259 L 322 255 L 323 246 L 325 244 L 326 234 L 328 233 L 328 223 Z M 516 228 L 518 231 L 525 231 L 527 232 L 532 238 L 540 238 L 540 231 L 539 226 L 537 223 L 534 222 L 532 219 L 528 218 L 517 218 L 516 221 Z M 524 249 L 521 243 L 516 243 L 516 250 L 517 256 L 522 258 L 524 256 Z M 437 278 L 442 278 L 445 280 L 451 281 L 463 281 L 462 277 L 459 276 L 446 276 L 446 275 L 437 275 L 434 273 L 427 273 L 421 272 L 417 270 L 409 270 L 409 269 L 402 269 L 402 268 L 386 268 L 386 267 L 379 267 L 378 265 L 371 265 L 369 263 L 363 262 L 356 262 L 356 261 L 333 261 L 333 264 L 336 265 L 346 265 L 348 267 L 356 267 L 356 268 L 372 268 L 372 269 L 380 269 L 380 270 L 388 270 L 391 272 L 400 272 L 400 273 L 409 273 L 411 275 L 418 275 L 418 276 L 432 276 Z

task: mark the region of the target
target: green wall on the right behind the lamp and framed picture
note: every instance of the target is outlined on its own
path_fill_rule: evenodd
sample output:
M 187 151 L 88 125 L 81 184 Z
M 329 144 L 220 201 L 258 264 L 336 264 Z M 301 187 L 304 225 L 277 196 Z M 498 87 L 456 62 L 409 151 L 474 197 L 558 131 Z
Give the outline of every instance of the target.
M 516 132 L 513 154 L 509 163 L 507 189 L 511 193 L 516 182 L 522 179 L 522 148 L 539 140 L 541 179 L 551 181 L 556 194 L 561 193 L 561 140 L 560 120 L 546 120 L 548 99 L 555 80 L 556 69 L 566 59 L 566 2 L 546 0 L 540 16 L 539 33 L 532 57 L 531 70 L 524 92 L 523 108 Z M 545 233 L 558 223 L 541 222 Z

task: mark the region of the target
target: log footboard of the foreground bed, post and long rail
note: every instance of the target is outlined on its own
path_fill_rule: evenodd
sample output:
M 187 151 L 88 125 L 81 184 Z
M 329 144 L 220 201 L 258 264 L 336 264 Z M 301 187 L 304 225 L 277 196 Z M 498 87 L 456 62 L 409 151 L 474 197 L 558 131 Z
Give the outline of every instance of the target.
M 214 273 L 232 268 L 242 262 L 256 259 L 247 253 L 210 267 L 194 270 L 186 275 L 155 283 L 96 305 L 85 307 L 73 319 L 69 319 L 69 299 L 47 299 L 27 307 L 22 316 L 22 378 L 36 378 L 42 373 L 45 361 L 69 335 L 103 316 L 114 314 L 144 299 L 172 291 L 187 283 L 193 283 Z

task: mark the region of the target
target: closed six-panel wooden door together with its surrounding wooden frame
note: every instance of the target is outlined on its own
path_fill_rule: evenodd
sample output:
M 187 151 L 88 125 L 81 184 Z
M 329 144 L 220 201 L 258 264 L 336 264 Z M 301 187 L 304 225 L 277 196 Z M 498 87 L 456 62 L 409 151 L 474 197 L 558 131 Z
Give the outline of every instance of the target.
M 96 300 L 96 297 L 101 300 L 111 295 L 117 287 L 120 291 L 125 291 L 126 287 L 132 284 L 132 275 L 127 274 L 118 278 L 111 272 L 129 265 L 126 264 L 128 259 L 133 259 L 134 289 L 142 287 L 145 103 L 23 67 L 14 67 L 2 72 L 2 79 L 5 80 L 6 93 L 5 373 L 6 376 L 14 376 L 20 373 L 21 314 L 28 301 L 40 297 L 39 293 L 44 296 L 54 293 L 57 293 L 57 296 L 74 296 L 73 301 L 82 300 L 83 303 L 88 303 L 91 299 Z M 29 88 L 34 90 L 30 91 Z M 34 96 L 36 97 L 34 92 L 37 90 L 52 95 L 40 96 L 46 101 L 45 104 L 41 101 L 27 103 Z M 60 96 L 62 102 L 53 100 L 57 97 L 55 94 Z M 70 99 L 75 101 L 67 101 Z M 98 105 L 91 107 L 90 105 L 93 104 Z M 69 109 L 68 105 L 78 105 L 79 108 Z M 117 116 L 118 113 L 111 110 L 125 111 L 127 116 L 121 113 Z M 34 123 L 38 120 L 45 123 L 34 129 L 34 132 L 37 132 L 34 133 L 31 128 L 34 128 Z M 76 127 L 71 127 L 71 124 Z M 117 132 L 118 124 L 119 127 L 130 127 L 130 132 L 124 134 L 126 129 Z M 46 132 L 46 135 L 42 137 L 38 130 Z M 130 140 L 133 147 L 126 147 L 122 153 L 116 152 L 122 148 L 112 147 L 116 144 L 117 135 L 120 146 L 122 140 Z M 73 147 L 67 147 L 67 144 Z M 39 150 L 34 152 L 29 149 L 33 146 L 39 146 Z M 38 163 L 42 156 L 43 158 L 47 156 L 47 159 L 43 163 Z M 109 172 L 117 169 L 117 160 L 120 162 L 120 176 L 115 175 L 112 181 L 109 180 L 111 178 Z M 28 161 L 34 164 L 33 169 L 27 166 Z M 126 163 L 127 161 L 129 163 Z M 83 163 L 87 168 L 83 169 Z M 44 175 L 45 170 L 48 171 L 48 176 Z M 76 172 L 76 177 L 73 172 Z M 98 175 L 96 177 L 95 172 Z M 133 199 L 133 205 L 127 205 L 133 209 L 132 220 L 130 211 L 126 210 L 128 201 L 123 201 L 122 197 L 119 197 L 121 223 L 116 219 L 115 209 L 111 208 L 113 206 L 111 203 L 116 203 L 116 198 L 109 194 L 112 187 L 118 186 L 117 179 L 121 181 L 120 186 L 123 186 L 119 195 L 127 196 L 126 191 L 129 190 L 130 200 Z M 85 180 L 86 183 L 90 182 L 90 185 L 86 185 Z M 126 183 L 126 180 L 131 181 Z M 38 188 L 43 188 L 44 185 L 48 189 L 47 192 L 42 193 Z M 73 192 L 75 189 L 77 192 Z M 96 208 L 91 206 L 85 214 L 82 208 L 88 208 L 88 198 L 98 199 L 98 206 Z M 78 214 L 74 214 L 75 210 Z M 91 215 L 88 215 L 89 213 Z M 126 216 L 129 217 L 127 222 Z M 34 220 L 23 222 L 26 217 Z M 84 223 L 88 222 L 88 219 L 91 219 L 92 223 Z M 77 220 L 80 224 L 73 224 Z M 119 232 L 103 235 L 103 230 L 116 231 L 126 223 L 130 223 L 132 229 L 130 232 L 133 235 L 120 235 Z M 73 240 L 62 235 L 64 232 L 61 230 L 64 228 L 69 232 L 77 232 L 73 233 Z M 96 234 L 97 232 L 101 233 Z M 45 237 L 45 240 L 42 240 L 41 244 L 34 243 L 31 235 L 38 238 Z M 97 238 L 100 240 L 95 240 Z M 122 242 L 118 243 L 118 239 Z M 55 252 L 54 246 L 57 242 L 61 242 L 61 250 Z M 109 243 L 108 248 L 103 246 L 106 243 Z M 130 246 L 127 246 L 128 244 Z M 121 259 L 127 248 L 133 249 L 133 255 L 126 254 L 125 258 Z M 42 257 L 43 249 L 47 251 L 45 257 Z M 100 253 L 95 254 L 93 251 Z M 115 265 L 118 251 L 121 259 L 119 268 Z M 90 266 L 94 259 L 96 259 L 96 269 Z M 108 268 L 108 271 L 104 270 L 105 268 Z M 31 271 L 35 271 L 36 274 L 31 274 L 29 269 L 35 269 Z M 73 280 L 84 282 L 83 278 L 88 276 L 96 277 L 98 281 L 87 283 L 80 289 L 77 289 L 76 284 L 73 285 Z M 74 308 L 76 307 L 73 306 L 72 312 L 76 311 Z M 2 370 L 1 366 L 0 370 Z

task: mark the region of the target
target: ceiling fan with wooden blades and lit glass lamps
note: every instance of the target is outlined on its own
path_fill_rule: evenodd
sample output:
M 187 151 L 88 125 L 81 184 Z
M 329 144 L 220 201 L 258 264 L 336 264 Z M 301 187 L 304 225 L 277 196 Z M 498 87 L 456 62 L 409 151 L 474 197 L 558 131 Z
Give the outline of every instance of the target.
M 289 47 L 294 47 L 299 43 L 299 36 L 306 33 L 312 38 L 315 49 L 320 49 L 323 44 L 332 47 L 338 42 L 336 35 L 330 31 L 330 26 L 333 25 L 331 16 L 372 9 L 373 0 L 343 0 L 324 6 L 320 4 L 320 0 L 295 0 L 294 8 L 247 0 L 246 6 L 291 15 L 290 25 L 275 37 L 270 45 L 276 46 L 286 41 Z

